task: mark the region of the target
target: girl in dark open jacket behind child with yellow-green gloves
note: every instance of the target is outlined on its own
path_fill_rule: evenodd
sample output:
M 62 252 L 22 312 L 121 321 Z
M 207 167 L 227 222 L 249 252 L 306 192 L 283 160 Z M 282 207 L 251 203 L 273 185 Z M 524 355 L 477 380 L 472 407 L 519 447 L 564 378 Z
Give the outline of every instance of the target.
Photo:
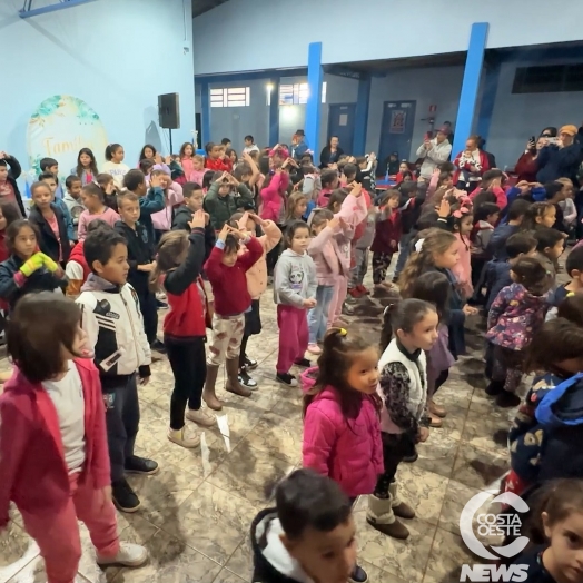
M 29 220 L 40 233 L 40 250 L 62 266 L 69 260 L 71 253 L 65 215 L 51 201 L 53 195 L 45 182 L 34 182 L 30 187 L 30 194 L 33 205 L 30 208 Z

